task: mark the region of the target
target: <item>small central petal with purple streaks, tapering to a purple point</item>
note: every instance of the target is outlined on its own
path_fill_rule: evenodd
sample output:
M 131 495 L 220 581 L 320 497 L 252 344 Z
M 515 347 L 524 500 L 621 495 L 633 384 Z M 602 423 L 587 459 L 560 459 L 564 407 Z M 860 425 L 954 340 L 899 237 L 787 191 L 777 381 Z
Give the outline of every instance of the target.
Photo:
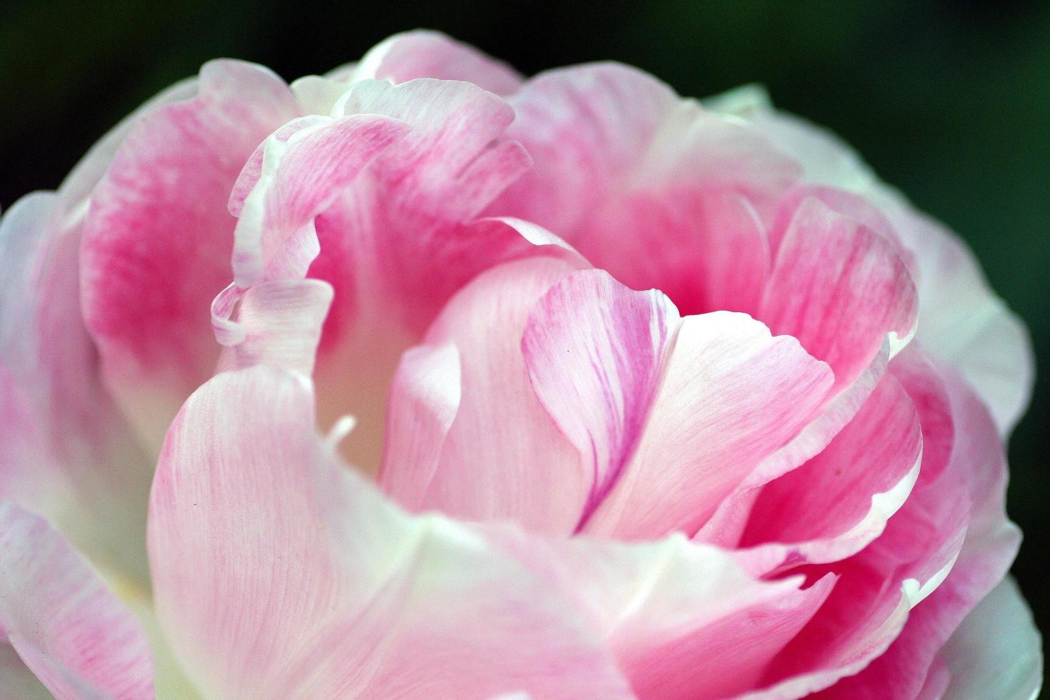
M 591 474 L 581 524 L 634 453 L 679 325 L 666 296 L 596 270 L 565 278 L 529 314 L 522 353 L 532 388 Z

